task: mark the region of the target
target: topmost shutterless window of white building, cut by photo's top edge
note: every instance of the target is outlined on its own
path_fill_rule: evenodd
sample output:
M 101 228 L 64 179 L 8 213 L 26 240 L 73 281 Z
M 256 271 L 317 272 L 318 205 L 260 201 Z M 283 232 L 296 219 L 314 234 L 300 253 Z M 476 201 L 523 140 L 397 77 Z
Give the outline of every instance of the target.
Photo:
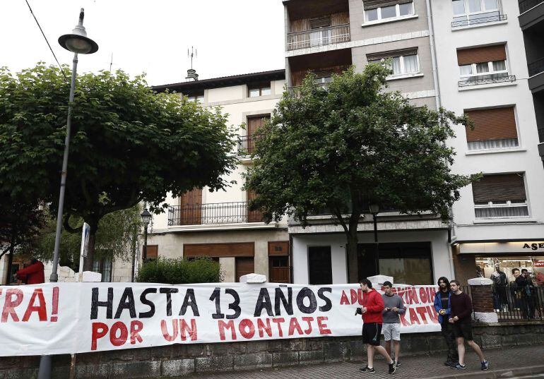
M 454 22 L 451 26 L 464 26 L 502 20 L 499 0 L 453 0 Z

